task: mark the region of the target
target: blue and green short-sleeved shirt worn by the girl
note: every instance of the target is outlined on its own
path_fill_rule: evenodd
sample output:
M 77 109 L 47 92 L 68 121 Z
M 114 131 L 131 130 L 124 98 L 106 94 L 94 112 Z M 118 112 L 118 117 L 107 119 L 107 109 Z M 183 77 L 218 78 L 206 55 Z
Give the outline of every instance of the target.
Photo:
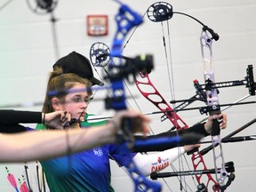
M 88 116 L 85 116 L 87 119 Z M 106 121 L 89 123 L 84 121 L 81 127 L 92 127 L 106 124 Z M 36 129 L 42 129 L 37 125 Z M 111 156 L 111 157 L 110 157 Z M 52 192 L 85 192 L 114 191 L 110 184 L 111 172 L 109 158 L 123 166 L 135 154 L 121 156 L 114 144 L 92 148 L 72 156 L 63 156 L 52 160 L 41 161 L 47 184 Z

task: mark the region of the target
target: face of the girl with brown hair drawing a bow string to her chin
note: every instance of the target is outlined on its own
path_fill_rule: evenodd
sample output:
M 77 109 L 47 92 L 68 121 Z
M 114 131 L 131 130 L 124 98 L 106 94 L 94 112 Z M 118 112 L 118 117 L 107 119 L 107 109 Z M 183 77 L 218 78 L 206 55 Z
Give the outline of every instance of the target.
M 60 110 L 67 110 L 71 118 L 76 118 L 79 121 L 84 120 L 87 106 L 90 101 L 87 92 L 72 92 L 72 90 L 83 90 L 84 84 L 76 83 L 70 93 L 66 95 L 64 103 L 60 104 Z

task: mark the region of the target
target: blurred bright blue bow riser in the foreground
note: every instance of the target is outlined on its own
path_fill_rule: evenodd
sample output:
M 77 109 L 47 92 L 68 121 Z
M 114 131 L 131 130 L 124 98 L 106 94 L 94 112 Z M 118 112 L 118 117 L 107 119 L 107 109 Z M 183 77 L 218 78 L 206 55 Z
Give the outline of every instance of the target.
M 122 48 L 124 43 L 124 38 L 128 34 L 128 32 L 135 26 L 139 26 L 143 20 L 140 14 L 137 12 L 132 11 L 130 7 L 128 7 L 125 4 L 122 4 L 118 2 L 121 6 L 119 8 L 119 12 L 116 14 L 116 24 L 117 24 L 117 30 L 114 37 L 114 42 L 112 44 L 112 49 L 109 54 L 110 62 L 108 65 L 108 73 L 110 78 L 110 84 L 111 84 L 111 98 L 107 99 L 107 108 L 113 108 L 115 110 L 123 110 L 126 109 L 126 103 L 125 103 L 125 92 L 124 92 L 124 76 L 129 76 L 129 73 L 132 72 L 132 68 L 130 68 L 131 71 L 126 71 L 124 68 L 124 65 L 122 64 Z M 127 17 L 129 15 L 129 18 Z M 113 58 L 118 58 L 117 62 L 113 61 Z M 123 73 L 122 73 L 123 71 Z M 126 71 L 124 73 L 124 71 Z M 123 75 L 123 76 L 122 76 Z M 130 120 L 125 119 L 124 120 L 124 130 L 130 130 L 129 124 Z M 122 154 L 131 153 L 129 145 L 123 144 L 119 145 L 119 150 Z M 134 191 L 161 191 L 161 185 L 155 181 L 148 180 L 138 169 L 137 165 L 132 161 L 128 161 L 126 164 L 124 164 L 127 171 L 130 174 L 130 177 L 132 178 L 135 190 Z M 136 176 L 134 175 L 134 172 L 136 172 Z

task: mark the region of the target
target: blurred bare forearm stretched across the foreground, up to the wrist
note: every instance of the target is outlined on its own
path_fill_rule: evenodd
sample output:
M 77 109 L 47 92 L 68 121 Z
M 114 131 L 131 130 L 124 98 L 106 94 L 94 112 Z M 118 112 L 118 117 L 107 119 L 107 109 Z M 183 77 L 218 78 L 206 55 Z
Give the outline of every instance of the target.
M 67 135 L 68 134 L 68 135 Z M 116 140 L 113 126 L 88 129 L 24 132 L 0 136 L 1 162 L 27 162 L 66 156 Z M 68 149 L 69 148 L 69 149 Z

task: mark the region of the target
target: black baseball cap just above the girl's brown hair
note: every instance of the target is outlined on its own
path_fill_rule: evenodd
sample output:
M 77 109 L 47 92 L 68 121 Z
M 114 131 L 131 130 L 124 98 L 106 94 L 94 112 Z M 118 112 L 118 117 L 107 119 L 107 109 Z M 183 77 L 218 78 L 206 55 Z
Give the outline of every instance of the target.
M 56 67 L 61 67 L 63 73 L 74 73 L 77 76 L 87 78 L 92 82 L 92 85 L 104 85 L 100 80 L 93 76 L 90 61 L 78 52 L 70 52 L 68 55 L 60 58 L 60 60 L 57 60 L 52 66 L 53 70 Z

